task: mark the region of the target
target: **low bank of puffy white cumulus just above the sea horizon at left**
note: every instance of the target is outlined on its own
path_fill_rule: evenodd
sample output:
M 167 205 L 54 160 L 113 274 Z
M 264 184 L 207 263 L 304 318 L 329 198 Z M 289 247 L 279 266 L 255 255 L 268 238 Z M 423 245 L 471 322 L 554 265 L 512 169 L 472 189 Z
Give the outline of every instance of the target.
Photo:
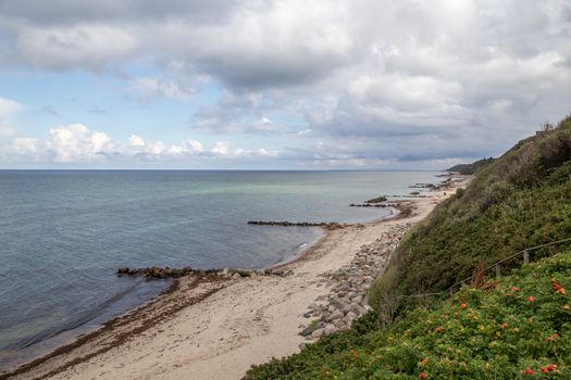
M 263 148 L 252 151 L 232 149 L 228 141 L 219 141 L 206 149 L 200 141 L 186 139 L 179 143 L 148 141 L 132 135 L 126 143 L 83 124 L 59 126 L 49 130 L 47 139 L 16 138 L 0 147 L 0 163 L 108 164 L 178 162 L 201 164 L 209 160 L 234 160 L 276 156 Z

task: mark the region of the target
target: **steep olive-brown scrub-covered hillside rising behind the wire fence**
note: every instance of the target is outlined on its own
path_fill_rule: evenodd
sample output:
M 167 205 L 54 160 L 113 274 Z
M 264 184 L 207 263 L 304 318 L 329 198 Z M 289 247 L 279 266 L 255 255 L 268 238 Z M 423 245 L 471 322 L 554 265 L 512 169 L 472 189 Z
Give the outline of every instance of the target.
M 437 206 L 394 252 L 369 302 L 390 317 L 402 306 L 401 294 L 443 291 L 470 277 L 479 262 L 569 237 L 571 116 L 518 142 Z

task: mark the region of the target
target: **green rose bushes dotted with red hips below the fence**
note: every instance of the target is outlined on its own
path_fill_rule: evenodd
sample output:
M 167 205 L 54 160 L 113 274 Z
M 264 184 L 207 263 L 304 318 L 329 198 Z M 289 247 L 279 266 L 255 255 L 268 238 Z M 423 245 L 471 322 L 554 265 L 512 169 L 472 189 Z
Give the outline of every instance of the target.
M 571 252 L 462 289 L 389 328 L 374 315 L 246 379 L 571 379 Z

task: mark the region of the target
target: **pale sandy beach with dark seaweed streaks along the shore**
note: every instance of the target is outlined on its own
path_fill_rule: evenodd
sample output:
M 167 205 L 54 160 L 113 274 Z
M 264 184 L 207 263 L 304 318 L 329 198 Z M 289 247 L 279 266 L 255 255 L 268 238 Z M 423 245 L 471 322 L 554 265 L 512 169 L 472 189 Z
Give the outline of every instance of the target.
M 440 192 L 415 199 L 405 218 L 327 231 L 301 259 L 285 265 L 293 276 L 202 282 L 198 288 L 184 278 L 179 289 L 154 304 L 16 378 L 239 379 L 253 364 L 299 352 L 305 341 L 299 331 L 309 322 L 302 314 L 330 291 L 320 284 L 320 275 L 349 264 L 361 245 L 392 226 L 423 219 L 444 198 Z M 200 302 L 193 300 L 211 291 Z M 137 330 L 140 326 L 147 327 Z

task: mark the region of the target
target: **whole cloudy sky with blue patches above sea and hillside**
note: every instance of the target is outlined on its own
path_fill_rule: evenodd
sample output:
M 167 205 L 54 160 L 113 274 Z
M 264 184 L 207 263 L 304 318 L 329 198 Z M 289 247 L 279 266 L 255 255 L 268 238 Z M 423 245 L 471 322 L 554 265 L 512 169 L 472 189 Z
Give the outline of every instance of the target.
M 570 100 L 571 0 L 0 0 L 0 168 L 443 169 Z

